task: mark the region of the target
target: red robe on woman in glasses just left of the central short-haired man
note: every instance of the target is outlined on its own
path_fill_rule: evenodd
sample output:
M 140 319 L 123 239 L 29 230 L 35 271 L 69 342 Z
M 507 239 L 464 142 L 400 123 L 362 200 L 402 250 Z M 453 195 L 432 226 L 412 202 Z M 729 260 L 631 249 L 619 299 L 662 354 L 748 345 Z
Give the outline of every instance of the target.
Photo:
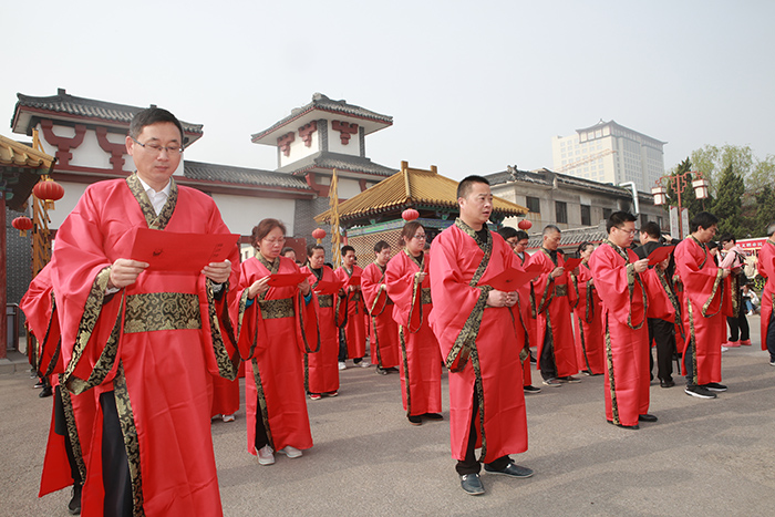
M 442 358 L 438 342 L 428 325 L 427 314 L 433 310 L 427 257 L 421 265 L 405 250 L 388 262 L 385 283 L 388 294 L 395 303 L 393 320 L 399 324 L 401 340 L 401 399 L 406 416 L 442 411 Z M 393 324 L 395 324 L 393 323 Z

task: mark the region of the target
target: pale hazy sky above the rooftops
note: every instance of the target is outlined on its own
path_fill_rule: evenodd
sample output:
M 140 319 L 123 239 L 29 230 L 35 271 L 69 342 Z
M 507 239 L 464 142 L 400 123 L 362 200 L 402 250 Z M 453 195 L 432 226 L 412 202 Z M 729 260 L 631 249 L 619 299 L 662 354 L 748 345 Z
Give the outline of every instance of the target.
M 7 2 L 8 3 L 8 2 Z M 772 1 L 16 1 L 0 19 L 0 134 L 56 89 L 204 124 L 186 158 L 275 169 L 250 142 L 321 92 L 393 116 L 366 156 L 445 176 L 552 168 L 600 120 L 775 154 Z

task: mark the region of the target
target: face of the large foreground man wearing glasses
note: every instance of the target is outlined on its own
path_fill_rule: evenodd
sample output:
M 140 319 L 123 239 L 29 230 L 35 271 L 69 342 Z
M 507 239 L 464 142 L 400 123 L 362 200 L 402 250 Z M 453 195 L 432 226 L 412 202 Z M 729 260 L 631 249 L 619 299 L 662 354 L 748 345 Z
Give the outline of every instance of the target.
M 169 182 L 177 166 L 180 164 L 179 153 L 169 153 L 166 149 L 154 151 L 148 146 L 180 147 L 180 131 L 172 122 L 157 122 L 143 127 L 137 136 L 137 145 L 131 136 L 126 137 L 126 152 L 134 159 L 137 175 L 154 190 L 161 190 Z

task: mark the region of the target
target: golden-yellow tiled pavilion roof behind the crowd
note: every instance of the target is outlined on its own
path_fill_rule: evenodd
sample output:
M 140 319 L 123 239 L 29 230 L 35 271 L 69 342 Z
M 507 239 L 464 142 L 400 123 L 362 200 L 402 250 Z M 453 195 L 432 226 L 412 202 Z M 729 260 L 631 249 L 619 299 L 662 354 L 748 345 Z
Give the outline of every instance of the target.
M 397 211 L 407 207 L 438 207 L 457 210 L 457 182 L 436 173 L 402 167 L 401 172 L 383 179 L 339 205 L 340 220 L 358 219 L 370 215 Z M 499 197 L 494 199 L 494 213 L 505 217 L 527 213 L 527 208 Z M 328 223 L 331 210 L 314 218 Z

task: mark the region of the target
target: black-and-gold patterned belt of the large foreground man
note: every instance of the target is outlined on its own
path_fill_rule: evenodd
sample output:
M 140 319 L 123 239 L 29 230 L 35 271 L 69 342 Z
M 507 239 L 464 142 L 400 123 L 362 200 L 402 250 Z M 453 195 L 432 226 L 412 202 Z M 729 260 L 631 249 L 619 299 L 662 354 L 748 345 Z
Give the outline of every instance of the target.
M 126 297 L 124 333 L 202 329 L 199 297 L 183 292 L 146 292 Z

